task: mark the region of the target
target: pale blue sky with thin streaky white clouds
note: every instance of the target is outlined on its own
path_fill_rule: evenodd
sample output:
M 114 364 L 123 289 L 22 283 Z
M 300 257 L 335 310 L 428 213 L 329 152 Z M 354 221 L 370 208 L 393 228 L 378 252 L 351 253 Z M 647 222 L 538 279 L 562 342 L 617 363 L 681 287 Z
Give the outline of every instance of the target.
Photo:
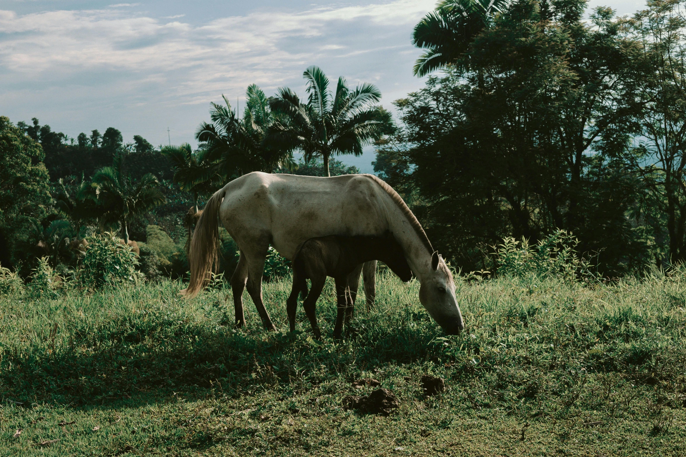
M 115 0 L 116 1 L 116 0 Z M 591 0 L 617 14 L 643 1 Z M 436 0 L 0 0 L 0 114 L 75 138 L 107 127 L 126 142 L 189 142 L 209 103 L 243 105 L 248 85 L 305 95 L 303 71 L 376 84 L 381 104 L 418 90 L 412 28 Z M 241 110 L 242 111 L 242 110 Z M 167 131 L 167 129 L 169 129 Z M 342 156 L 363 173 L 374 160 Z

